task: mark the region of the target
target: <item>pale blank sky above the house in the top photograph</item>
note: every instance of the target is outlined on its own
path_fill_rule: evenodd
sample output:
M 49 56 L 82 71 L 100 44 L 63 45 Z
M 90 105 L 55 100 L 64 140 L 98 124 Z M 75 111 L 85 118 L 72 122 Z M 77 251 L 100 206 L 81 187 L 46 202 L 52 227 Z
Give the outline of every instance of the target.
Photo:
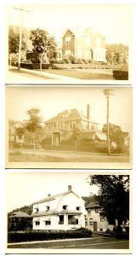
M 17 8 L 17 9 L 14 9 Z M 7 24 L 20 26 L 21 4 L 7 5 Z M 23 4 L 22 25 L 40 27 L 59 41 L 66 28 L 97 27 L 104 34 L 107 44 L 132 41 L 131 4 Z M 125 29 L 124 29 L 125 28 Z

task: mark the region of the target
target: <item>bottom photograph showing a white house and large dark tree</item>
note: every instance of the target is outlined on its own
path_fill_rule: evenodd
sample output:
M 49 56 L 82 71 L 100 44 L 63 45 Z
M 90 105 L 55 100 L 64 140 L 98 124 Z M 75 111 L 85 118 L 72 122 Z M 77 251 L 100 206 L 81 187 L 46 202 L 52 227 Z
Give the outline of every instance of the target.
M 6 173 L 7 252 L 131 253 L 129 176 Z

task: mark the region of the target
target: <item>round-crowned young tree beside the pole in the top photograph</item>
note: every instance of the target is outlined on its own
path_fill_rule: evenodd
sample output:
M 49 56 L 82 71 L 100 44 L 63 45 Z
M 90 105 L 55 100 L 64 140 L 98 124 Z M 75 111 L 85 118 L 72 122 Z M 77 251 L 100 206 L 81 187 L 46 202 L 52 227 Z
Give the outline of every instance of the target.
M 33 45 L 33 51 L 37 52 L 40 59 L 40 71 L 42 72 L 42 54 L 49 55 L 49 50 L 55 49 L 56 43 L 54 37 L 49 37 L 46 30 L 37 28 L 31 30 L 31 41 Z

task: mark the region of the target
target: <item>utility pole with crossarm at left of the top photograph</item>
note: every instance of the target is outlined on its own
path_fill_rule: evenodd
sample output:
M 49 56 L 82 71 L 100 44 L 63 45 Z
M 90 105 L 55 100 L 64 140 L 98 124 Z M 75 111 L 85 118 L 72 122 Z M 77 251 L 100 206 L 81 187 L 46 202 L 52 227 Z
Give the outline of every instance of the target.
M 20 54 L 21 54 L 21 44 L 22 44 L 22 16 L 23 16 L 23 11 L 30 13 L 29 10 L 23 9 L 23 5 L 21 5 L 21 8 L 14 8 L 17 10 L 20 10 L 20 43 L 19 43 L 19 61 L 18 61 L 18 69 L 20 70 Z

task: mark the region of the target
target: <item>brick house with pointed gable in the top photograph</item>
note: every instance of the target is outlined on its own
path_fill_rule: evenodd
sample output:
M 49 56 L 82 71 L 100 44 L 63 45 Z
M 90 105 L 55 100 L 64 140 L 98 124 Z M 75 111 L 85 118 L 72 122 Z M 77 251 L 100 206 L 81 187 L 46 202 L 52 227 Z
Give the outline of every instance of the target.
M 95 27 L 81 30 L 67 28 L 62 39 L 62 55 L 105 62 L 105 37 Z

